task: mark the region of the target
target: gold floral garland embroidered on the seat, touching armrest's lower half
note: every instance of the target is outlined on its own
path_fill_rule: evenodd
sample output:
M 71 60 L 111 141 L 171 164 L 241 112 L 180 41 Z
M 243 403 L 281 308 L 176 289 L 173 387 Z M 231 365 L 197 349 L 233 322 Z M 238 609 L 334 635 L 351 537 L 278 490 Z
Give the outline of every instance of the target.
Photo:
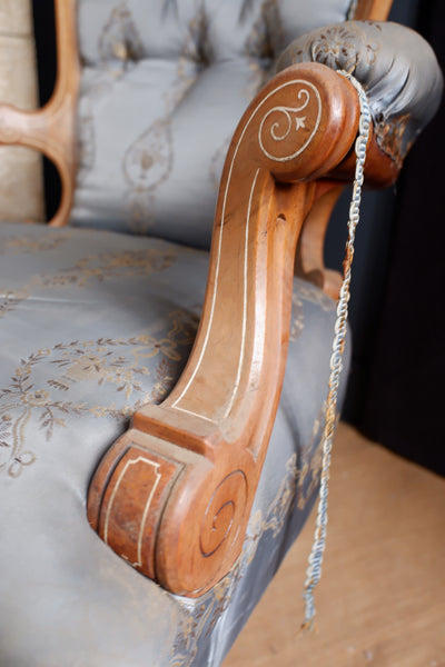
M 69 427 L 67 420 L 75 415 L 108 416 L 123 425 L 145 402 L 160 402 L 178 378 L 197 328 L 197 318 L 186 311 L 174 311 L 169 319 L 165 335 L 75 340 L 22 359 L 10 385 L 0 390 L 0 472 L 18 477 L 24 466 L 34 462 L 34 452 L 24 448 L 31 424 L 33 428 L 38 425 L 49 441 L 56 429 Z M 157 362 L 149 365 L 155 357 Z M 147 392 L 144 378 L 151 375 L 156 382 Z M 96 400 L 102 395 L 107 402 L 83 400 L 91 387 Z M 109 402 L 110 389 L 113 402 Z

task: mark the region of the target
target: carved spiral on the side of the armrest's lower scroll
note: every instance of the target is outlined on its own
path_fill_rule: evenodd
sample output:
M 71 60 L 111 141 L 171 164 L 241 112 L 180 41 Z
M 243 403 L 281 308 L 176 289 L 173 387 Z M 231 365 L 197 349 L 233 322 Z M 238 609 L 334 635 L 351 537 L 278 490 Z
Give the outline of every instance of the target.
M 228 550 L 238 535 L 247 502 L 247 479 L 241 470 L 230 472 L 215 489 L 207 505 L 199 536 L 204 558 Z

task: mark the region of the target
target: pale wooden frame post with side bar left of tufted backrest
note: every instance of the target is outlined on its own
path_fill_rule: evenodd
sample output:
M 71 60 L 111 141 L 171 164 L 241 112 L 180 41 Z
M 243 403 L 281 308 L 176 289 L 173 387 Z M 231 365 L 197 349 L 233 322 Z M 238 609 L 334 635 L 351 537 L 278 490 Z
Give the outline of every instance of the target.
M 77 51 L 76 2 L 56 0 L 58 74 L 53 93 L 38 111 L 0 103 L 0 143 L 19 145 L 44 153 L 58 168 L 62 195 L 50 225 L 66 225 L 76 180 L 75 125 L 80 68 Z

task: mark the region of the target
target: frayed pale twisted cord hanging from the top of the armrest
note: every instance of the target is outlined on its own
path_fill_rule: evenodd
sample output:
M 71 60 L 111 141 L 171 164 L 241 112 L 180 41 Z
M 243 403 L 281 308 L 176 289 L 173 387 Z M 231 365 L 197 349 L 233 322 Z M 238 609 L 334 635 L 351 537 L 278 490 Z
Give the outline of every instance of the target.
M 328 505 L 328 481 L 330 456 L 333 449 L 333 438 L 337 421 L 337 395 L 339 377 L 343 369 L 343 352 L 345 349 L 346 321 L 348 315 L 349 288 L 352 276 L 352 263 L 354 258 L 355 230 L 359 221 L 359 207 L 362 199 L 362 186 L 364 180 L 364 166 L 366 160 L 366 146 L 369 138 L 370 111 L 365 91 L 360 83 L 349 73 L 339 70 L 339 74 L 346 77 L 357 90 L 360 104 L 360 120 L 358 126 L 358 137 L 355 142 L 356 168 L 354 178 L 353 196 L 349 206 L 348 239 L 346 242 L 345 260 L 343 265 L 343 282 L 337 302 L 337 318 L 335 321 L 335 336 L 333 341 L 333 354 L 330 357 L 330 376 L 328 385 L 328 396 L 326 401 L 325 428 L 323 432 L 323 459 L 320 488 L 318 498 L 318 509 L 314 542 L 308 559 L 306 571 L 306 581 L 303 593 L 305 601 L 305 621 L 303 628 L 313 629 L 315 618 L 314 589 L 322 577 L 322 565 L 326 545 L 327 530 L 327 505 Z

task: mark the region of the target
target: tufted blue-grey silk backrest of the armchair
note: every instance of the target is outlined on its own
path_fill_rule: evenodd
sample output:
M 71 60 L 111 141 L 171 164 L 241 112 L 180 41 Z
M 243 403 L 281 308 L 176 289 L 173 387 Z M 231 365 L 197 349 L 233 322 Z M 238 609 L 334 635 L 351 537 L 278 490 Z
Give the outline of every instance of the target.
M 369 16 L 369 1 L 363 4 Z M 231 135 L 275 58 L 299 34 L 347 19 L 356 6 L 78 0 L 82 69 L 71 223 L 208 246 Z

